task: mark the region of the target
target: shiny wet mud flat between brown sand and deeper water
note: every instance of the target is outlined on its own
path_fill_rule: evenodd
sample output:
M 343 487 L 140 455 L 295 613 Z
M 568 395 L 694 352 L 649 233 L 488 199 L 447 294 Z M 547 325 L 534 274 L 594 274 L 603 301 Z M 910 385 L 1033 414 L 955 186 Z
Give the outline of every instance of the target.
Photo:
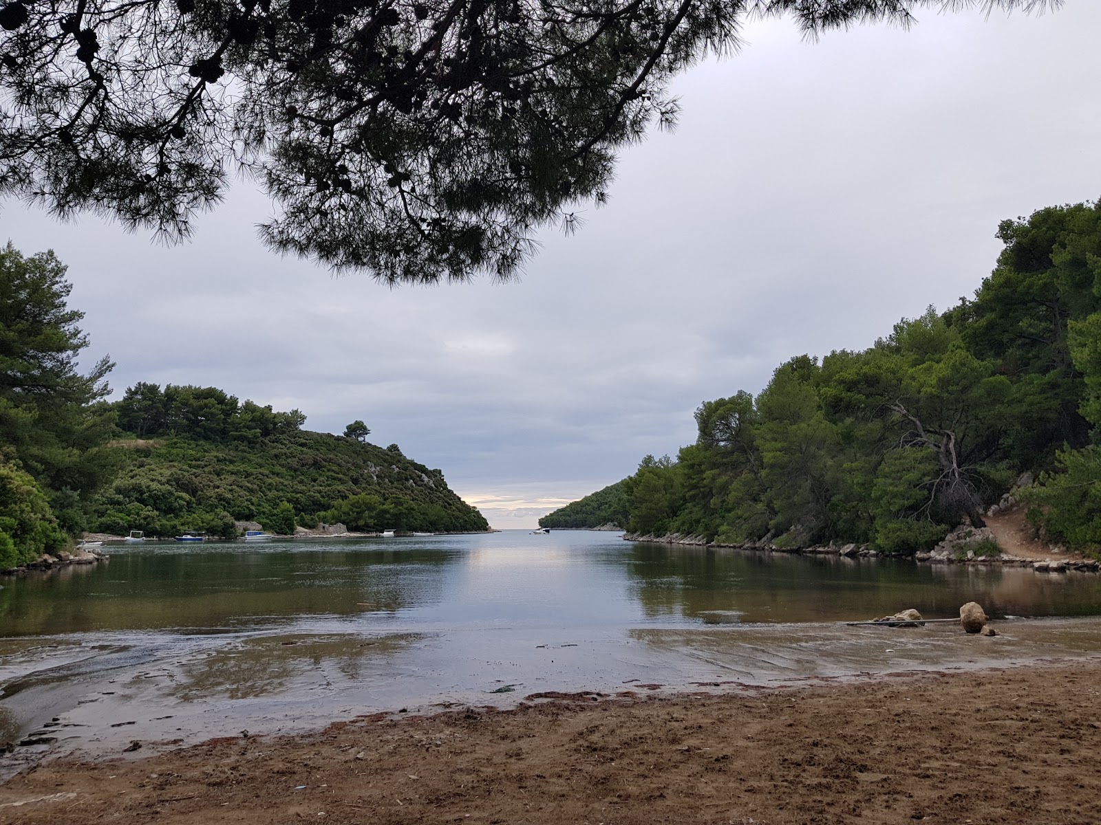
M 526 696 L 729 694 L 1101 654 L 1099 618 L 994 625 L 993 638 L 944 624 L 794 624 L 466 634 L 326 626 L 0 640 L 0 734 L 13 744 L 0 754 L 0 781 L 56 757 L 146 757 L 378 713 L 508 711 Z

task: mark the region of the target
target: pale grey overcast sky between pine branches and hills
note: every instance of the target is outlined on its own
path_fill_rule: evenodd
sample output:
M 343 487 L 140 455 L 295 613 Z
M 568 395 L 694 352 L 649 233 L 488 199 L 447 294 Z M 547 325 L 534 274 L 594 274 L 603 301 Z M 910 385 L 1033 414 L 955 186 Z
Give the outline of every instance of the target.
M 1101 3 L 922 14 L 909 32 L 755 24 L 676 84 L 678 129 L 621 157 L 581 231 L 519 282 L 334 278 L 260 245 L 248 185 L 163 248 L 9 201 L 0 239 L 54 249 L 111 384 L 215 385 L 439 468 L 500 528 L 695 438 L 700 402 L 799 353 L 865 348 L 971 295 L 998 222 L 1101 196 Z

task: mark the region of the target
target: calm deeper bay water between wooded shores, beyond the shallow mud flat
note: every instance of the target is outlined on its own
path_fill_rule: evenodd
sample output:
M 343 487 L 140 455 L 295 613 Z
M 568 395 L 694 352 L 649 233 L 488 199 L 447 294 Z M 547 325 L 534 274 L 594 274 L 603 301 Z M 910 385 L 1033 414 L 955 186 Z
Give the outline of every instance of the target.
M 359 628 L 653 627 L 872 618 L 1101 614 L 1101 576 L 772 556 L 508 531 L 428 539 L 172 542 L 6 580 L 0 636 L 217 630 L 355 617 Z

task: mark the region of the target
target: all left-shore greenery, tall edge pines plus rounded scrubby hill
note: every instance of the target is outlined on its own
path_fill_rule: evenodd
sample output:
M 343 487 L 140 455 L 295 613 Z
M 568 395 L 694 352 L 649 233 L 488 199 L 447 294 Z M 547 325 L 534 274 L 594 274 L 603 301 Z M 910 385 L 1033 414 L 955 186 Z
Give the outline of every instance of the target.
M 102 359 L 77 369 L 88 339 L 51 252 L 0 248 L 0 570 L 69 544 L 83 530 L 230 537 L 233 520 L 290 532 L 488 529 L 438 470 L 396 444 L 302 430 L 298 410 L 215 387 L 139 383 L 117 403 Z

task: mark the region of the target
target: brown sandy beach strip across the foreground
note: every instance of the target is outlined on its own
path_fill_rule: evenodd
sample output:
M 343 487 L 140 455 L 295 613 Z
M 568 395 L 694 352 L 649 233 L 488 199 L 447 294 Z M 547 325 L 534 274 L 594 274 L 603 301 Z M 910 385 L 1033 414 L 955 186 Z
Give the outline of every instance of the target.
M 1101 660 L 348 717 L 0 787 L 4 823 L 1089 823 Z

